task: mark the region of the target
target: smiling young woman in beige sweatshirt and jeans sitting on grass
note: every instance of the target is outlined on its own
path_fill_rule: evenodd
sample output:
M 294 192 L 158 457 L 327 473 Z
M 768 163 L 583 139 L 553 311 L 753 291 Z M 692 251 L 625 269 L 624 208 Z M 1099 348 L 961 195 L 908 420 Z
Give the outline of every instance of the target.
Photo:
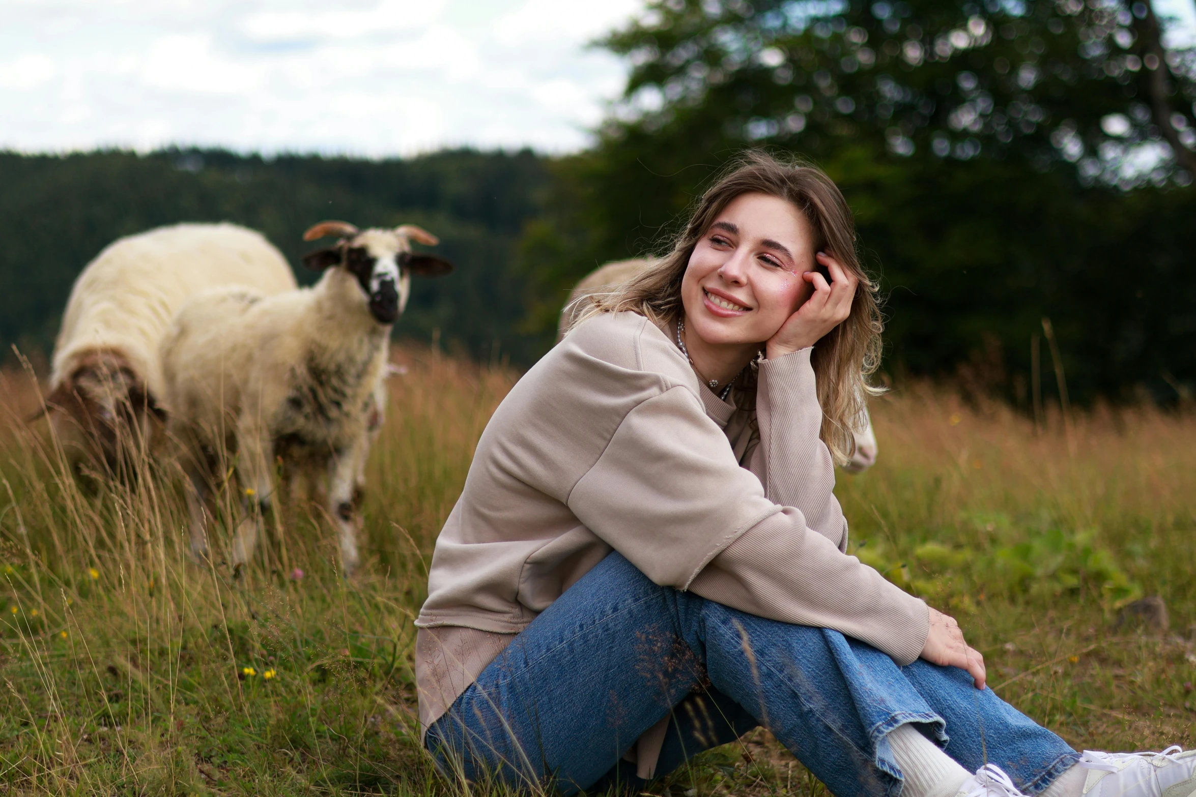
M 837 797 L 1196 792 L 1178 748 L 1081 758 L 984 687 L 954 620 L 846 553 L 834 460 L 874 292 L 834 183 L 752 153 L 519 380 L 416 620 L 445 772 L 637 787 L 764 725 Z

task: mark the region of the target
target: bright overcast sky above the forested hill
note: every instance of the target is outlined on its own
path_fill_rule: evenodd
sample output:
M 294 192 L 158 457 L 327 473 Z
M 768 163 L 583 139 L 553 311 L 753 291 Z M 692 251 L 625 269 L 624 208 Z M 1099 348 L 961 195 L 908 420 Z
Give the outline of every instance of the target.
M 0 0 L 0 148 L 569 152 L 642 0 Z M 1155 0 L 1185 19 L 1192 0 Z

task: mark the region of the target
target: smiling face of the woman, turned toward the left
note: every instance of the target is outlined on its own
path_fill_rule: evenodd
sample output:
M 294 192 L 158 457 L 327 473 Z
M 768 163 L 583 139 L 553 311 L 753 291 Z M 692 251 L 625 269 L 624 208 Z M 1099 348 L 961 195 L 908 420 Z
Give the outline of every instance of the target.
M 742 194 L 697 241 L 681 283 L 685 327 L 708 344 L 763 343 L 813 290 L 814 231 L 786 200 Z

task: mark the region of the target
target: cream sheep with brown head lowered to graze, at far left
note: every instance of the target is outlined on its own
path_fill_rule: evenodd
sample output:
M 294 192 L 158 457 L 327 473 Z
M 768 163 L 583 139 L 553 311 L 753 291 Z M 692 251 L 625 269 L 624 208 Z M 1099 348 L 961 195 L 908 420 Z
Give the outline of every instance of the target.
M 293 290 L 286 258 L 230 223 L 159 227 L 110 244 L 75 280 L 54 345 L 47 409 L 77 468 L 132 476 L 129 458 L 160 439 L 158 348 L 175 312 L 215 286 Z M 128 468 L 128 470 L 126 470 Z

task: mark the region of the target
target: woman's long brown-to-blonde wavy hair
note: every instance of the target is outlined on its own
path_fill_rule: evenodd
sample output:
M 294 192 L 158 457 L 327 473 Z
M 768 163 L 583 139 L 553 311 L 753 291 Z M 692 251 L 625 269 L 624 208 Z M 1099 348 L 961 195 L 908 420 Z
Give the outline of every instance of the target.
M 744 153 L 702 194 L 671 251 L 612 290 L 582 296 L 579 301 L 588 302 L 588 307 L 574 308 L 569 326 L 598 313 L 623 311 L 646 315 L 658 326 L 676 324 L 684 313 L 681 283 L 694 247 L 731 201 L 743 194 L 767 194 L 791 202 L 816 232 L 814 251 L 832 255 L 860 281 L 852 314 L 818 341 L 811 356 L 823 410 L 819 436 L 836 461 L 846 462 L 855 452 L 852 433 L 861 425 L 865 397 L 881 392 L 867 384 L 867 376 L 880 364 L 884 324 L 877 304 L 878 286 L 860 265 L 852 210 L 838 186 L 816 166 L 795 158 L 780 160 L 758 149 Z M 737 381 L 737 399 L 743 397 L 748 406 L 755 406 L 755 363 Z

